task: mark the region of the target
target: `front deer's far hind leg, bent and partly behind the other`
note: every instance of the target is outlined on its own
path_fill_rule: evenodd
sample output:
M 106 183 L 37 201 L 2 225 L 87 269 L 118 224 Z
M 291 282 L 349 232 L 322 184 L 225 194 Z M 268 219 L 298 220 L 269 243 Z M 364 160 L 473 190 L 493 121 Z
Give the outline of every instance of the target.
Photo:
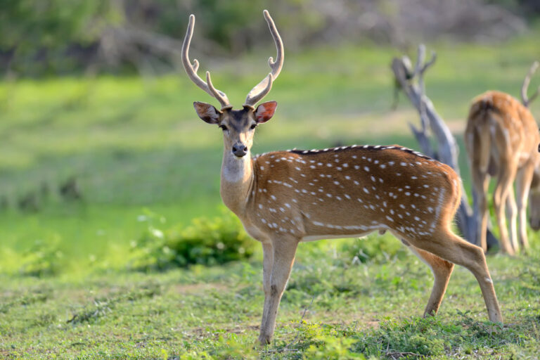
M 430 300 L 428 300 L 428 304 L 425 306 L 424 317 L 435 315 L 437 314 L 437 311 L 439 311 L 442 298 L 444 297 L 444 293 L 446 293 L 446 287 L 448 286 L 450 276 L 454 270 L 454 264 L 447 262 L 437 255 L 433 255 L 431 252 L 418 249 L 413 245 L 407 245 L 407 247 L 409 250 L 411 250 L 411 252 L 413 252 L 414 255 L 420 258 L 420 260 L 430 266 L 431 272 L 435 277 Z

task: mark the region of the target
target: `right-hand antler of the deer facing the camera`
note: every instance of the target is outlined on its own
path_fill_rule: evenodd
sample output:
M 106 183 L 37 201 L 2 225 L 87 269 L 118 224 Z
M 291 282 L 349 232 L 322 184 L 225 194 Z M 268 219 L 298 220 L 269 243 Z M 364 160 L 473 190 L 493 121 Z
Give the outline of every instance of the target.
M 276 24 L 274 24 L 274 20 L 272 20 L 270 13 L 266 10 L 262 13 L 264 15 L 264 19 L 266 19 L 266 23 L 268 23 L 272 37 L 274 38 L 277 55 L 275 61 L 272 57 L 268 59 L 268 65 L 272 69 L 272 72 L 270 72 L 268 76 L 264 77 L 262 82 L 259 82 L 259 84 L 251 89 L 248 97 L 245 98 L 244 106 L 250 107 L 253 107 L 257 102 L 261 101 L 261 99 L 264 98 L 264 96 L 266 96 L 266 94 L 268 94 L 270 91 L 272 82 L 278 77 L 279 73 L 281 72 L 281 68 L 283 68 L 283 56 L 285 53 L 285 51 L 283 51 L 283 41 L 281 40 L 281 36 L 279 35 Z

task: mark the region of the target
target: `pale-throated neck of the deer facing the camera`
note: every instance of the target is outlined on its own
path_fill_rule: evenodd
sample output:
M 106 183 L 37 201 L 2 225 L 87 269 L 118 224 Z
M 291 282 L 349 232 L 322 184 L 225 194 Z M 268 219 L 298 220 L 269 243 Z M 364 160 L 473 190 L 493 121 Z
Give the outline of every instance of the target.
M 231 150 L 225 150 L 221 164 L 221 186 L 219 192 L 226 207 L 242 217 L 254 183 L 250 153 L 237 158 Z

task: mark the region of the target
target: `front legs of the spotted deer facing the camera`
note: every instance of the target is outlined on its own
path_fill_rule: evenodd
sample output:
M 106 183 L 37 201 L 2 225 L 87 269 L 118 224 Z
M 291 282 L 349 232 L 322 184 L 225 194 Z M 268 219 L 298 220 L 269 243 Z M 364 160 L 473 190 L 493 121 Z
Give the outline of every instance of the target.
M 261 345 L 269 344 L 274 328 L 276 327 L 276 316 L 278 314 L 279 302 L 285 290 L 285 285 L 290 276 L 290 270 L 293 268 L 295 261 L 296 248 L 298 240 L 295 238 L 280 238 L 274 240 L 271 246 L 272 265 L 269 278 L 269 288 L 266 288 L 266 253 L 264 255 L 264 309 L 262 313 L 261 332 L 259 334 L 259 342 Z M 263 245 L 263 251 L 266 252 Z

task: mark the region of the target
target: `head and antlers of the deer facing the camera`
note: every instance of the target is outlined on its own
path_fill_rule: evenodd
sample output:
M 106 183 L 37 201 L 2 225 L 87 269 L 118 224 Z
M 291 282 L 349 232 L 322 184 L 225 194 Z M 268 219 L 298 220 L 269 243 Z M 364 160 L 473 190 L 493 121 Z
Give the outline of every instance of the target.
M 283 67 L 283 41 L 281 41 L 274 20 L 272 20 L 268 11 L 265 10 L 263 14 L 272 37 L 274 37 L 278 54 L 275 61 L 274 58 L 269 58 L 268 64 L 272 71 L 250 91 L 241 110 L 233 110 L 226 94 L 214 88 L 212 79 L 210 79 L 210 72 L 206 72 L 206 82 L 203 81 L 197 75 L 199 68 L 198 61 L 193 60 L 192 64 L 189 60 L 189 45 L 193 36 L 193 27 L 195 27 L 194 15 L 190 15 L 189 17 L 188 30 L 184 38 L 184 45 L 182 46 L 182 63 L 189 78 L 200 89 L 203 89 L 221 103 L 221 110 L 217 110 L 217 108 L 214 108 L 214 106 L 208 103 L 197 101 L 193 103 L 195 111 L 203 121 L 208 124 L 217 124 L 223 130 L 225 150 L 231 151 L 237 158 L 243 158 L 243 156 L 249 153 L 253 144 L 255 127 L 270 120 L 278 105 L 276 101 L 268 101 L 255 108 L 255 105 L 269 93 L 274 79 L 278 77 Z

